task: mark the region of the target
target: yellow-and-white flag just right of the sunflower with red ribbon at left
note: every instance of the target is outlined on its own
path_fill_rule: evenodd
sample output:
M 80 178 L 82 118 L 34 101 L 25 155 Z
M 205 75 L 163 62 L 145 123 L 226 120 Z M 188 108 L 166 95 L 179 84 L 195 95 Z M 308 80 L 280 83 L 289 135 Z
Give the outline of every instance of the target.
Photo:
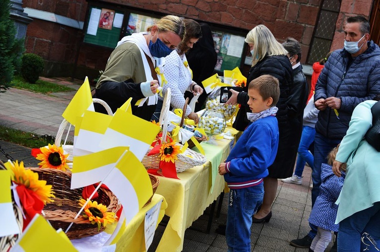
M 118 146 L 88 155 L 74 156 L 71 189 L 86 187 L 104 180 L 128 149 L 127 146 Z

